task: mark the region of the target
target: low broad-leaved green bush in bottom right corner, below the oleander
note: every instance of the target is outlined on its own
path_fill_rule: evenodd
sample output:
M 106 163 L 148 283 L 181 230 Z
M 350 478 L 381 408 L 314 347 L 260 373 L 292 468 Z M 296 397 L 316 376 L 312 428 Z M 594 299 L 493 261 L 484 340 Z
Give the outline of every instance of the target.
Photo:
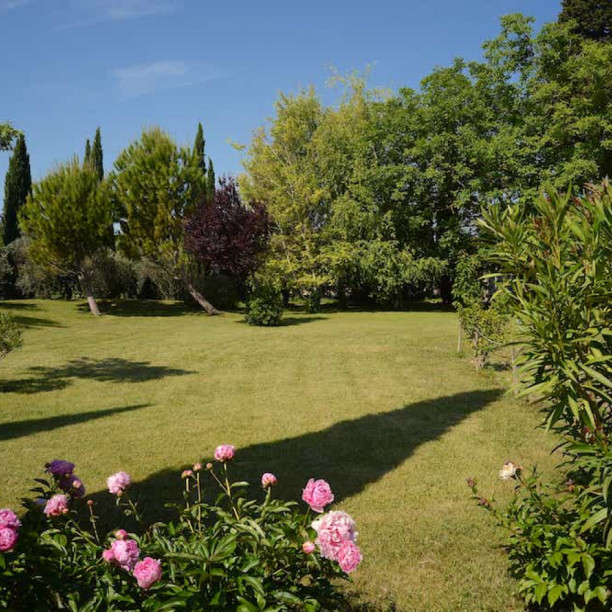
M 612 553 L 593 529 L 593 509 L 585 489 L 569 479 L 562 488 L 544 485 L 533 471 L 520 473 L 509 505 L 499 510 L 478 495 L 506 532 L 510 572 L 519 580 L 527 605 L 546 610 L 607 610 Z

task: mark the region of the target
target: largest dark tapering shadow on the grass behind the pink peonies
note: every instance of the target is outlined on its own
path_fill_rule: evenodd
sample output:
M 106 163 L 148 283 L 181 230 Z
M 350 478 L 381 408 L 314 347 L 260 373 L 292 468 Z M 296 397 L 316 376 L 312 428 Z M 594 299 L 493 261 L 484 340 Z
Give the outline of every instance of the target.
M 441 437 L 500 394 L 496 389 L 458 393 L 342 421 L 322 431 L 239 448 L 230 471 L 236 480 L 252 483 L 251 492 L 256 495 L 262 473 L 272 472 L 279 479 L 275 495 L 292 500 L 301 498 L 309 478 L 324 478 L 332 486 L 336 503 L 342 502 L 397 468 L 421 444 Z M 208 459 L 205 457 L 203 463 Z M 206 491 L 216 495 L 212 479 L 206 474 L 204 478 Z M 180 472 L 175 470 L 163 470 L 136 483 L 134 494 L 146 520 L 172 516 L 164 503 L 179 501 L 182 487 Z M 94 495 L 96 503 L 106 507 L 108 497 L 104 493 Z

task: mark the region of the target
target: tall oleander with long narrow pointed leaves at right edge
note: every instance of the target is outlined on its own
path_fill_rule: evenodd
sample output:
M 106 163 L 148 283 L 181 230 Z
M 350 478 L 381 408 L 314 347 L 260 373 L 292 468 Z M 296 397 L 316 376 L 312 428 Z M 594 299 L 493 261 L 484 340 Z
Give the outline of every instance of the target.
M 587 197 L 549 189 L 532 212 L 491 209 L 490 258 L 508 276 L 527 391 L 544 396 L 548 423 L 577 433 L 610 420 L 612 387 L 612 189 Z

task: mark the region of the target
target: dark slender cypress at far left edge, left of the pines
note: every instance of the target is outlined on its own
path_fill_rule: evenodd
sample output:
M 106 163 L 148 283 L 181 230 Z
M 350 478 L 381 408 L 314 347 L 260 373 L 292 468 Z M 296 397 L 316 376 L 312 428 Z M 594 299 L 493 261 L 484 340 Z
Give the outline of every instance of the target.
M 32 192 L 32 174 L 30 172 L 30 156 L 25 143 L 25 137 L 20 134 L 9 161 L 8 171 L 4 179 L 4 244 L 10 244 L 19 238 L 17 213 L 25 204 Z

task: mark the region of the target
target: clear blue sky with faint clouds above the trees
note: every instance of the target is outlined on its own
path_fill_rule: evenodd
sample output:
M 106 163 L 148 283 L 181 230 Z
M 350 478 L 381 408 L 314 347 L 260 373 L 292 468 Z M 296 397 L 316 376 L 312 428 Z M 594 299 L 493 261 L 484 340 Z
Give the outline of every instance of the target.
M 538 25 L 559 0 L 0 0 L 0 121 L 26 133 L 34 179 L 102 129 L 105 167 L 144 126 L 181 143 L 202 121 L 217 173 L 240 171 L 279 91 L 374 63 L 370 83 L 417 87 L 477 59 L 499 17 Z M 326 94 L 329 96 L 330 94 Z M 8 154 L 0 153 L 0 177 Z M 3 181 L 0 184 L 0 192 Z

